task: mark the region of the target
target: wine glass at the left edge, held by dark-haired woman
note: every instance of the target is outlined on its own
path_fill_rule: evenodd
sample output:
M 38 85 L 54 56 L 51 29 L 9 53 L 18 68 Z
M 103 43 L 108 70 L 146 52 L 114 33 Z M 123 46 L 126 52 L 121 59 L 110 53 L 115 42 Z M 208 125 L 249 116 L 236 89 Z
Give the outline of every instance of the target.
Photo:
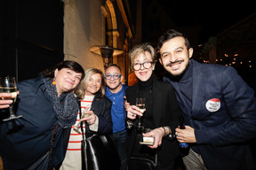
M 13 104 L 15 103 L 17 97 L 17 85 L 14 77 L 0 77 L 0 93 L 11 93 L 11 97 L 2 97 L 2 100 L 12 99 L 13 101 L 9 107 L 10 116 L 3 121 L 14 120 L 22 117 L 22 115 L 16 116 L 13 111 Z

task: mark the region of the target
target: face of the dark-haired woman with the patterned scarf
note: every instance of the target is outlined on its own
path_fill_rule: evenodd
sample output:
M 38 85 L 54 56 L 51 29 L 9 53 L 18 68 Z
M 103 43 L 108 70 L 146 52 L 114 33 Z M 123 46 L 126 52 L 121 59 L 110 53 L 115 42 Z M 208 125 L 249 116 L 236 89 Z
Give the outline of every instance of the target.
M 82 73 L 76 73 L 69 68 L 62 68 L 54 71 L 54 77 L 58 96 L 60 97 L 63 92 L 76 89 L 76 86 L 81 81 Z

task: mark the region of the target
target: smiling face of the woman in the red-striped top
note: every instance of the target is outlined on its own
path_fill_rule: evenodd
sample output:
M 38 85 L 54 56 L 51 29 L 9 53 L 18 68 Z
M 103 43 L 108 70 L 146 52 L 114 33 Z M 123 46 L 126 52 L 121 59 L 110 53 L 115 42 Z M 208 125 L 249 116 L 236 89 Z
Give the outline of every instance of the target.
M 85 95 L 93 96 L 100 90 L 101 87 L 101 75 L 100 73 L 93 73 L 89 81 L 85 82 Z

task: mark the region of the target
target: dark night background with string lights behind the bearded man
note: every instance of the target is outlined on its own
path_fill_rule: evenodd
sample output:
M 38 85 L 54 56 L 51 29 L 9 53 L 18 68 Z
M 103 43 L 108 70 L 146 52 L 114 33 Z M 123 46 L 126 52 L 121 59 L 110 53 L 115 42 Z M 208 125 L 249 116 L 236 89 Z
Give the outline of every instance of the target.
M 194 49 L 193 58 L 199 62 L 210 60 L 209 52 L 215 45 L 217 54 L 213 63 L 235 67 L 256 90 L 254 2 L 142 0 L 142 6 L 142 42 L 151 42 L 156 47 L 157 39 L 173 28 L 188 37 Z M 159 62 L 155 73 L 159 80 L 166 74 Z

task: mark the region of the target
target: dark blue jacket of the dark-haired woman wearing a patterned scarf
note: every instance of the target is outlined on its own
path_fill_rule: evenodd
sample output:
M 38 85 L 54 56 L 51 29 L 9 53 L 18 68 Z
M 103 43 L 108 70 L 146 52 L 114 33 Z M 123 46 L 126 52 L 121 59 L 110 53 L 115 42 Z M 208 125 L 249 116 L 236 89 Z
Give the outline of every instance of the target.
M 20 95 L 17 99 L 16 114 L 23 125 L 19 131 L 6 135 L 11 121 L 0 124 L 0 156 L 4 169 L 28 169 L 38 158 L 51 148 L 52 133 L 58 120 L 53 111 L 51 98 L 48 96 L 42 77 L 21 81 L 18 84 Z M 65 94 L 60 96 L 63 99 Z M 58 128 L 52 164 L 59 166 L 68 146 L 68 129 Z M 64 139 L 65 138 L 65 139 Z

